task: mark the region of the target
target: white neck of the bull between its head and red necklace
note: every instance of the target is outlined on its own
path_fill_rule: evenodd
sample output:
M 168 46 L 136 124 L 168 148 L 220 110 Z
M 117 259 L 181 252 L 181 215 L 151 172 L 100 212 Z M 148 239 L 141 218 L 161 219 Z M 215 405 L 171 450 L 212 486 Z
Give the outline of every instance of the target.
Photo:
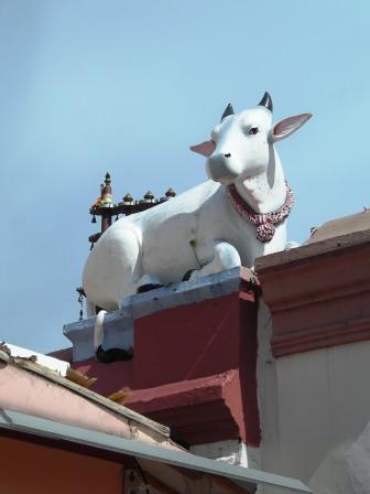
M 271 213 L 284 204 L 286 187 L 280 158 L 274 148 L 265 172 L 235 182 L 239 195 L 255 213 Z

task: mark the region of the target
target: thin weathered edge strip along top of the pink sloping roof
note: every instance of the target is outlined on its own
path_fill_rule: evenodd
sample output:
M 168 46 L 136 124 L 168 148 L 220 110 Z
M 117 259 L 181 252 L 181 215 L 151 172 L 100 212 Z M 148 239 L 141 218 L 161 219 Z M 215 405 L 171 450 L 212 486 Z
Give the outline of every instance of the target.
M 40 364 L 34 363 L 33 361 L 29 358 L 22 358 L 22 357 L 12 357 L 3 350 L 0 350 L 0 361 L 6 362 L 11 365 L 15 365 L 19 368 L 22 368 L 26 372 L 31 372 L 33 374 L 36 374 L 37 376 L 41 376 L 45 379 L 48 379 L 59 386 L 63 386 L 65 388 L 68 388 L 70 391 L 78 394 L 79 396 L 96 402 L 97 405 L 100 405 L 112 412 L 124 417 L 128 420 L 134 420 L 138 423 L 141 423 L 142 426 L 145 426 L 155 432 L 159 432 L 160 434 L 164 436 L 165 438 L 170 438 L 170 428 L 166 426 L 163 426 L 161 423 L 155 422 L 154 420 L 151 420 L 137 411 L 131 410 L 130 408 L 124 407 L 123 405 L 119 405 L 115 401 L 109 400 L 108 398 L 105 398 L 101 395 L 98 395 L 97 393 L 94 393 L 89 389 L 86 389 L 78 384 L 75 384 L 65 377 L 62 377 L 56 372 L 51 370 L 47 367 L 44 367 Z

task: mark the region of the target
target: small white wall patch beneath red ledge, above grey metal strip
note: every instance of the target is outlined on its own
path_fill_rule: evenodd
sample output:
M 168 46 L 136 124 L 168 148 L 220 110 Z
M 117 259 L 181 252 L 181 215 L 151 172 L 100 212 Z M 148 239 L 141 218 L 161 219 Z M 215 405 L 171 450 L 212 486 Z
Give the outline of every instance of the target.
M 198 457 L 226 461 L 232 465 L 260 469 L 259 448 L 251 448 L 236 439 L 192 445 L 189 451 Z

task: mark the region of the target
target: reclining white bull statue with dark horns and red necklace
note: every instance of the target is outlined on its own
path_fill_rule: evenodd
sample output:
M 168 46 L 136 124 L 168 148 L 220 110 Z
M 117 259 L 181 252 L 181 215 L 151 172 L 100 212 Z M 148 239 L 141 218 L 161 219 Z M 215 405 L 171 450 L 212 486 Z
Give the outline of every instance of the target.
M 211 140 L 191 148 L 207 158 L 210 180 L 119 219 L 100 237 L 83 275 L 90 304 L 116 310 L 138 291 L 252 267 L 255 257 L 283 250 L 293 196 L 274 143 L 311 116 L 272 125 L 268 93 L 240 114 L 229 105 Z

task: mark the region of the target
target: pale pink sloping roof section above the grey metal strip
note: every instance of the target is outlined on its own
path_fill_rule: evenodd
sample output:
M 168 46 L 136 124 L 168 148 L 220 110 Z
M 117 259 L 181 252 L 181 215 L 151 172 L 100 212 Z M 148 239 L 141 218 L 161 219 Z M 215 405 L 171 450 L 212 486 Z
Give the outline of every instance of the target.
M 167 427 L 88 389 L 96 379 L 70 368 L 65 376 L 61 375 L 45 362 L 40 364 L 34 356 L 19 356 L 6 345 L 0 346 L 0 361 L 3 365 L 0 399 L 4 408 L 128 439 L 134 425 L 142 441 L 178 449 L 171 441 Z

